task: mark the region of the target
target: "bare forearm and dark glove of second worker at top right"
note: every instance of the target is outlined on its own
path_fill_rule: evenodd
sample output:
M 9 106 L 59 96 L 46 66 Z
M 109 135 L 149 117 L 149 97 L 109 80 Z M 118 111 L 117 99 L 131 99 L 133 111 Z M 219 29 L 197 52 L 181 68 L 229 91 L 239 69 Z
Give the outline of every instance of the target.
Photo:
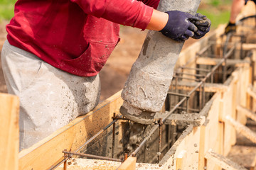
M 232 6 L 231 6 L 231 12 L 230 12 L 230 20 L 228 22 L 228 25 L 225 27 L 225 34 L 236 31 L 235 20 L 238 14 L 241 12 L 242 7 L 247 4 L 247 1 L 249 0 L 233 0 Z M 252 1 L 254 1 L 256 4 L 256 0 L 252 0 Z

